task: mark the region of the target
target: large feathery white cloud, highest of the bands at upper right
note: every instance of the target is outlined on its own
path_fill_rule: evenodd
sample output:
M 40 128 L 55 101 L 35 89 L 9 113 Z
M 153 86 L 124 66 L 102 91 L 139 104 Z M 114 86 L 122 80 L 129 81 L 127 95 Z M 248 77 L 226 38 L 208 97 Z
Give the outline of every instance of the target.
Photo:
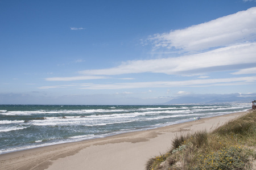
M 254 41 L 256 37 L 256 7 L 223 16 L 207 23 L 156 34 L 148 41 L 156 48 L 204 50 L 237 42 Z

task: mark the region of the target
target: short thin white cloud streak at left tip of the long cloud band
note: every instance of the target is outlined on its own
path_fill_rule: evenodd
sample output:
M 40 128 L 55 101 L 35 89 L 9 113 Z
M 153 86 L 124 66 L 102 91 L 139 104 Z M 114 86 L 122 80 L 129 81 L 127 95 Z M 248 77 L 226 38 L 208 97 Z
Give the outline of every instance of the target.
M 75 81 L 75 80 L 92 80 L 106 79 L 106 76 L 70 76 L 70 77 L 51 77 L 46 78 L 47 81 Z

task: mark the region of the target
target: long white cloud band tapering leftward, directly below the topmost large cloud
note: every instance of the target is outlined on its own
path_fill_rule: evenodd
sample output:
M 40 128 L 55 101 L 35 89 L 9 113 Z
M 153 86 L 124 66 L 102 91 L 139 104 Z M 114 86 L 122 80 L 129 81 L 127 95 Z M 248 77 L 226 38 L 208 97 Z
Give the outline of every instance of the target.
M 88 75 L 119 75 L 130 73 L 204 74 L 212 71 L 227 70 L 228 67 L 226 66 L 256 63 L 255 53 L 256 43 L 254 42 L 176 58 L 127 61 L 110 69 L 84 70 L 79 71 L 79 73 Z M 234 68 L 234 70 L 236 69 Z

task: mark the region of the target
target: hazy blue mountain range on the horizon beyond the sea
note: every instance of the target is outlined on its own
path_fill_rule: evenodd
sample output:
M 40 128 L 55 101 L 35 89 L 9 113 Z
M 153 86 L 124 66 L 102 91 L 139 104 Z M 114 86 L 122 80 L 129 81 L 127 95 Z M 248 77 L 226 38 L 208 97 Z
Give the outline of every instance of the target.
M 225 95 L 198 95 L 176 97 L 164 104 L 220 104 L 220 103 L 251 103 L 256 96 L 238 97 Z

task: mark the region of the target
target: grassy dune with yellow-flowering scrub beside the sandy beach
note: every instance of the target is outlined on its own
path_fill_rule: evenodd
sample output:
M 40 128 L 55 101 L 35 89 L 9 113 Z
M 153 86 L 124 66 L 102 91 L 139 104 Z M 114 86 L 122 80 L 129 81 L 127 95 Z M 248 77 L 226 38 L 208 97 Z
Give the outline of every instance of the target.
M 256 159 L 256 112 L 212 132 L 176 136 L 171 150 L 148 160 L 146 170 L 252 169 Z

